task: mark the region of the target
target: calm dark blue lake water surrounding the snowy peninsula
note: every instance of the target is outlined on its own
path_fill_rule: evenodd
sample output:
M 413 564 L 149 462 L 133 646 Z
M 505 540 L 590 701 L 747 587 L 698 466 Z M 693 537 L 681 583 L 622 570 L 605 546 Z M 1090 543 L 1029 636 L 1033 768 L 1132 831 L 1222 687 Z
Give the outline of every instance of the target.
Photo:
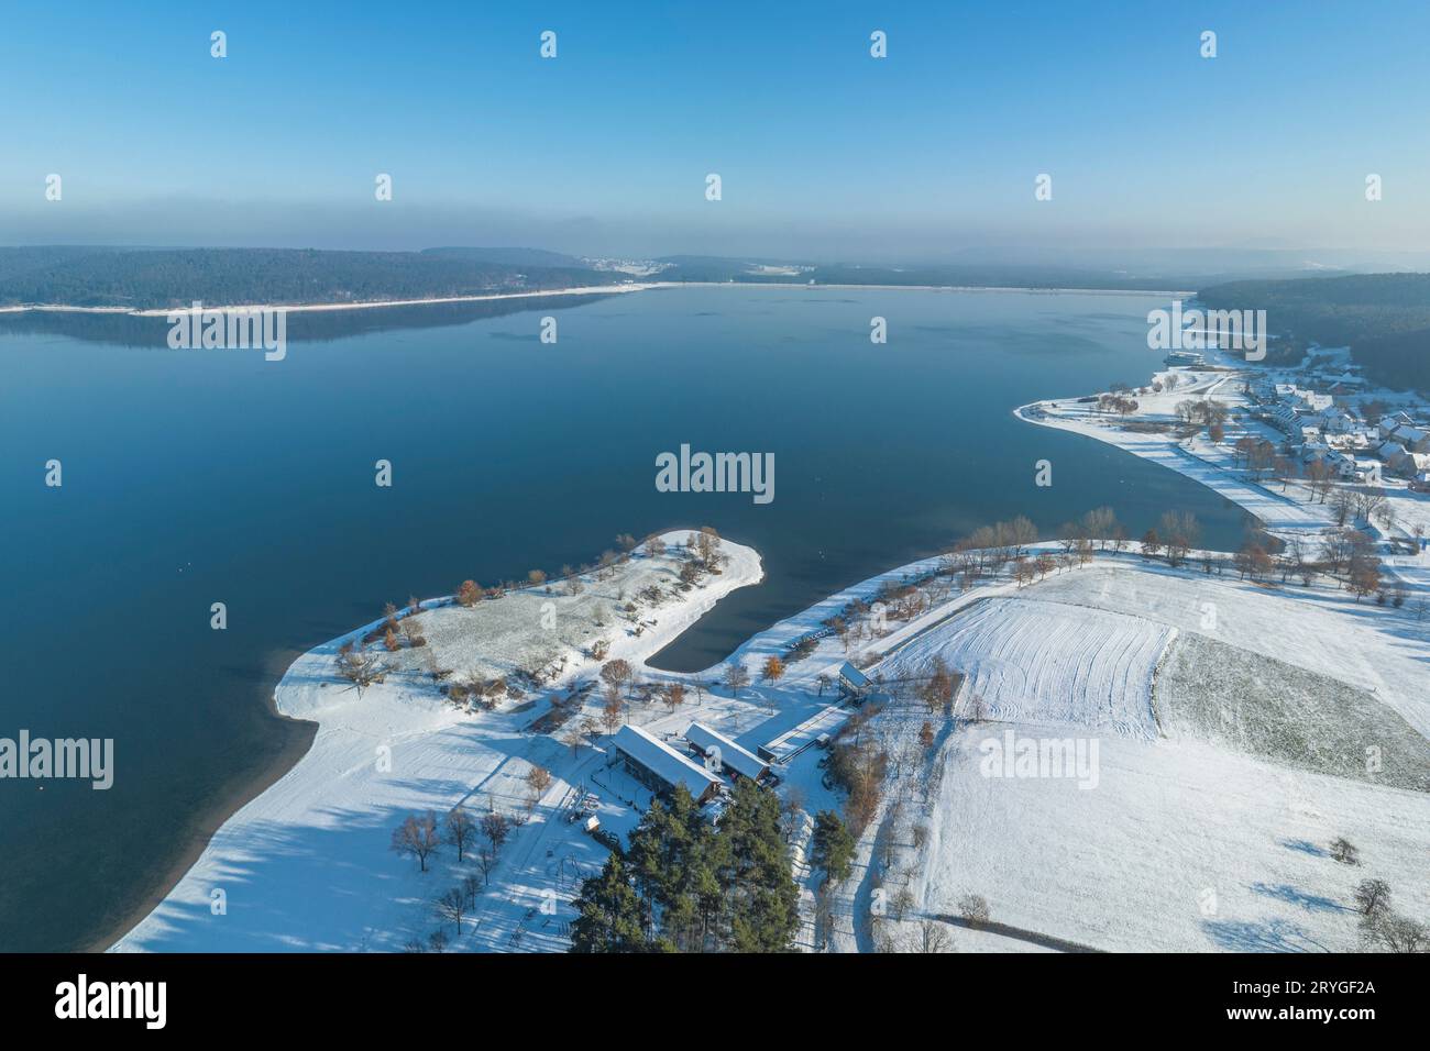
M 0 736 L 114 738 L 116 774 L 107 792 L 0 781 L 0 949 L 90 945 L 162 895 L 306 745 L 267 709 L 292 656 L 389 599 L 709 523 L 758 548 L 768 579 L 658 661 L 691 671 L 1017 513 L 1052 531 L 1107 503 L 1138 535 L 1181 508 L 1234 548 L 1247 519 L 1210 490 L 1010 415 L 1144 382 L 1164 305 L 692 287 L 293 316 L 283 362 L 169 350 L 163 319 L 4 317 Z M 543 315 L 556 345 L 538 340 Z M 772 452 L 774 502 L 656 492 L 655 458 L 681 443 Z

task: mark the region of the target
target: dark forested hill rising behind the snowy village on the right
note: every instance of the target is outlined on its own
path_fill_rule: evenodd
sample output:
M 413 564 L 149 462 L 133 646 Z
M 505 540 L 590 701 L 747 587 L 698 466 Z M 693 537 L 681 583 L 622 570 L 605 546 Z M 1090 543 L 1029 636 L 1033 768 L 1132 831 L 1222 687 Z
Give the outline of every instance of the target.
M 1350 346 L 1380 383 L 1430 390 L 1430 273 L 1231 282 L 1197 295 L 1208 307 L 1266 310 L 1273 333 Z

